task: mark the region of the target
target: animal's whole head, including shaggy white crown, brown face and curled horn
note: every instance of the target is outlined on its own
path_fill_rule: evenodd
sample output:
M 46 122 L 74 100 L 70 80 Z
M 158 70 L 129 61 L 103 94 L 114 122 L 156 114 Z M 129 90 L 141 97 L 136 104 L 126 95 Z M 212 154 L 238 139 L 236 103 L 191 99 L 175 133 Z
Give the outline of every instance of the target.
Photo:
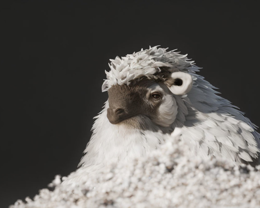
M 153 47 L 110 60 L 102 91 L 108 90 L 107 118 L 112 124 L 136 126 L 146 116 L 154 124 L 172 125 L 178 114 L 176 99 L 188 93 L 193 83 L 183 68 L 193 62 L 176 54 Z

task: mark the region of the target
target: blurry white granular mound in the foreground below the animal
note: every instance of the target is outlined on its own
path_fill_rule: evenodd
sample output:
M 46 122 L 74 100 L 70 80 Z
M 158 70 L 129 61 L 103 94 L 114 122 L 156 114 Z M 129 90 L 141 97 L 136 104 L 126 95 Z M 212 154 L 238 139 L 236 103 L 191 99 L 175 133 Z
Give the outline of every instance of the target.
M 56 176 L 54 191 L 17 200 L 22 207 L 260 207 L 260 166 L 239 167 L 191 155 L 188 145 L 169 139 L 146 157 L 108 164 L 80 180 Z M 73 175 L 73 174 L 72 174 Z M 67 182 L 67 183 L 66 183 Z

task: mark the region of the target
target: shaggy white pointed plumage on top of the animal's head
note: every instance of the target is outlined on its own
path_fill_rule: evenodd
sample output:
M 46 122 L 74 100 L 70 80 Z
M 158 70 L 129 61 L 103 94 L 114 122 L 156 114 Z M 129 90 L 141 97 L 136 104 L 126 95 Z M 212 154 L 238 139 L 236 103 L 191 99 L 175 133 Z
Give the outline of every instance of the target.
M 110 59 L 111 63 L 108 65 L 111 70 L 109 72 L 105 70 L 107 79 L 102 85 L 102 92 L 107 91 L 112 85 L 129 85 L 143 77 L 165 81 L 172 72 L 185 71 L 185 67 L 192 66 L 194 61 L 189 61 L 186 57 L 187 54 L 180 55 L 178 52 L 173 52 L 175 50 L 166 52 L 167 49 L 155 46 L 128 54 L 121 59 L 118 56 Z

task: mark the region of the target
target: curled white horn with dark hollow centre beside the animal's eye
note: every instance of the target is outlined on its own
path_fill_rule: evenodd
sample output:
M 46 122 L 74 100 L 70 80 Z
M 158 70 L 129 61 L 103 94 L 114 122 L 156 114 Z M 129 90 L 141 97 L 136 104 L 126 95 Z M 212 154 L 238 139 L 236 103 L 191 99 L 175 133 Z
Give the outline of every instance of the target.
M 187 94 L 192 88 L 192 77 L 185 72 L 173 72 L 165 82 L 175 95 Z

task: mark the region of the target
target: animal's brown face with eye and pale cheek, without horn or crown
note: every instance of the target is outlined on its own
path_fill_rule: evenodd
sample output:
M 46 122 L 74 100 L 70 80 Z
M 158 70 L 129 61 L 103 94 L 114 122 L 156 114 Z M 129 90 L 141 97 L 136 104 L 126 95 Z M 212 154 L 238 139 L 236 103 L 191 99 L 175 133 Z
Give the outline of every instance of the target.
M 158 121 L 169 119 L 164 118 L 162 114 L 169 110 L 177 112 L 177 107 L 166 85 L 152 80 L 142 80 L 138 84 L 130 84 L 129 86 L 126 84 L 113 85 L 108 90 L 108 103 L 107 118 L 112 124 L 118 124 L 130 118 L 133 120 L 135 116 L 142 115 L 147 116 L 157 125 L 169 126 L 177 114 L 175 113 L 167 125 Z M 165 103 L 170 105 L 172 109 L 165 107 Z M 174 105 L 176 109 L 173 108 Z

